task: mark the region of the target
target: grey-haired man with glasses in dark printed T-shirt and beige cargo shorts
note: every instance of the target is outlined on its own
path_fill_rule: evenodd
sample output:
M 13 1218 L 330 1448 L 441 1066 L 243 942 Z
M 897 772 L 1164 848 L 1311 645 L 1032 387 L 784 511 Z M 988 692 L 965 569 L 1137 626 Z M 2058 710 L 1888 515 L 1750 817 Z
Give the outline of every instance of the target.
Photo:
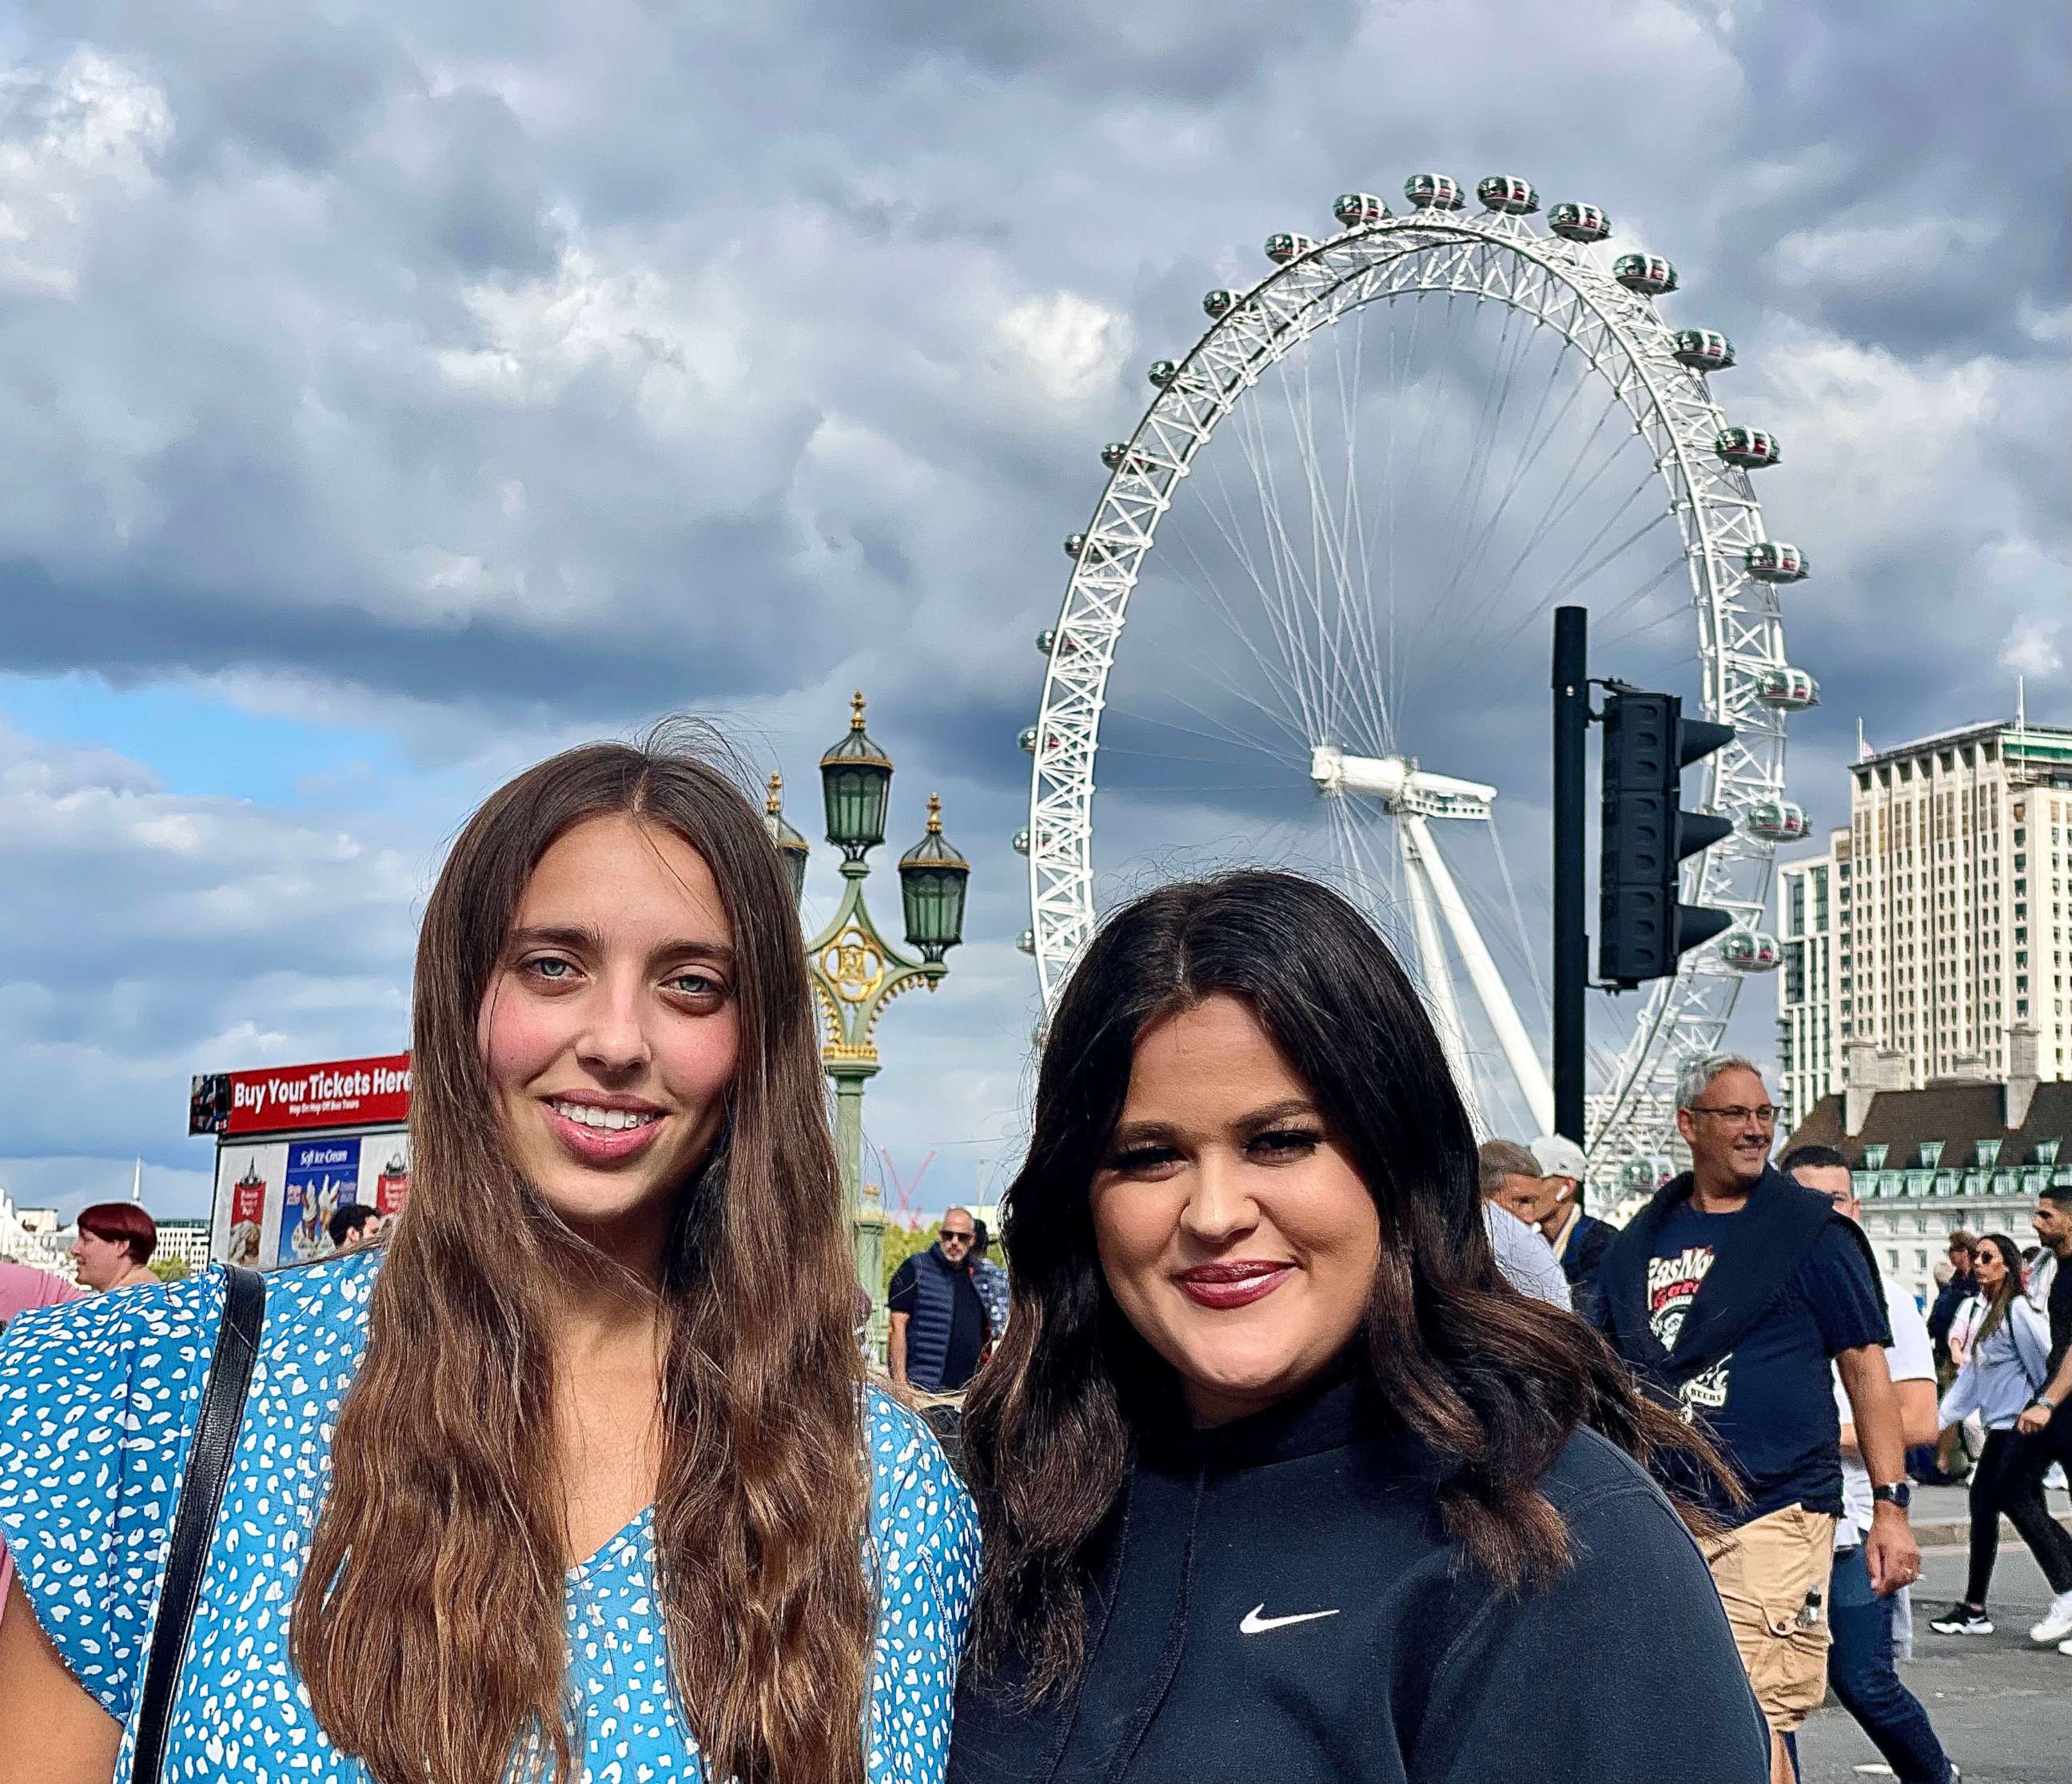
M 1691 1169 L 1612 1241 L 1593 1312 L 1627 1363 L 1709 1432 L 1745 1490 L 1736 1504 L 1697 1486 L 1724 1527 L 1705 1558 L 1769 1720 L 1772 1778 L 1792 1784 L 1784 1736 L 1828 1691 L 1825 1589 L 1842 1515 L 1830 1363 L 1871 1475 L 1871 1589 L 1912 1583 L 1921 1550 L 1906 1527 L 1877 1264 L 1825 1196 L 1772 1169 L 1776 1123 L 1761 1073 L 1738 1053 L 1685 1067 L 1676 1131 Z

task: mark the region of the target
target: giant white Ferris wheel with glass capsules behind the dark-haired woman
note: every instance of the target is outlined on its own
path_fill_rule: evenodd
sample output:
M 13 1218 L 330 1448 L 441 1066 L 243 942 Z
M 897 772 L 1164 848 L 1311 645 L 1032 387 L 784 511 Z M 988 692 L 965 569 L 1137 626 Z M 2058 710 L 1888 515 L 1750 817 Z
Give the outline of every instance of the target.
M 1772 854 L 1807 831 L 1784 727 L 1819 698 L 1780 591 L 1807 562 L 1751 485 L 1776 435 L 1714 400 L 1732 344 L 1658 313 L 1668 259 L 1606 247 L 1595 205 L 1537 226 L 1515 176 L 1481 180 L 1479 211 L 1444 174 L 1405 197 L 1394 215 L 1345 193 L 1332 234 L 1272 236 L 1264 278 L 1208 292 L 1200 340 L 1150 367 L 1102 450 L 1021 733 L 1021 945 L 1051 1001 L 1100 912 L 1154 879 L 1318 874 L 1411 963 L 1477 1123 L 1552 1131 L 1548 949 L 1502 833 L 1546 835 L 1548 615 L 1583 605 L 1600 673 L 1734 729 L 1701 800 L 1734 831 L 1682 891 L 1732 928 L 1645 997 L 1593 999 L 1591 1175 L 1631 1181 L 1666 1148 L 1682 1059 L 1778 961 Z M 1500 818 L 1500 792 L 1525 810 Z

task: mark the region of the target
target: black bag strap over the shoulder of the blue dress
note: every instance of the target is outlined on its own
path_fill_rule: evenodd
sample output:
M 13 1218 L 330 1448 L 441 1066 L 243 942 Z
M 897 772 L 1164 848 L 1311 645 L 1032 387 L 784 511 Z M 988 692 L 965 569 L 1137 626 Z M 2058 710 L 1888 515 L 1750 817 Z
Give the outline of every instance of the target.
M 244 1394 L 253 1380 L 253 1359 L 259 1355 L 265 1276 L 238 1264 L 230 1264 L 224 1274 L 224 1320 L 215 1332 L 209 1382 L 201 1390 L 201 1417 L 195 1421 L 195 1446 L 189 1450 L 186 1477 L 180 1481 L 180 1504 L 172 1515 L 172 1548 L 157 1595 L 151 1658 L 143 1672 L 137 1753 L 131 1759 L 133 1784 L 157 1784 L 160 1767 L 166 1763 L 172 1695 L 180 1685 L 186 1633 L 201 1600 L 201 1575 L 215 1537 L 215 1515 L 224 1506 L 224 1486 L 230 1481 L 230 1452 L 238 1442 L 238 1426 L 244 1423 Z

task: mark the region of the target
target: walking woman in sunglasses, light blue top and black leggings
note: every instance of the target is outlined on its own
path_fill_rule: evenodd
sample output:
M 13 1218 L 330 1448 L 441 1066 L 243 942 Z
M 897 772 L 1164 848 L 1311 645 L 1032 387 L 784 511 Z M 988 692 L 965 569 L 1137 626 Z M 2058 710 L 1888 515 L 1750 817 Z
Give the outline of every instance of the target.
M 1964 1595 L 1929 1622 L 1939 1635 L 1993 1633 L 1985 1595 L 1999 1560 L 2002 1513 L 2028 1544 L 2051 1593 L 2072 1591 L 2072 1535 L 2043 1502 L 2041 1463 L 2026 1465 L 2041 1438 L 2016 1430 L 2022 1409 L 2049 1380 L 2051 1328 L 2022 1293 L 2022 1254 L 2006 1233 L 1987 1233 L 1979 1241 L 1973 1270 L 1985 1314 L 1935 1417 L 1948 1430 L 1977 1413 L 1985 1426 L 1985 1448 L 1970 1471 L 1970 1571 Z

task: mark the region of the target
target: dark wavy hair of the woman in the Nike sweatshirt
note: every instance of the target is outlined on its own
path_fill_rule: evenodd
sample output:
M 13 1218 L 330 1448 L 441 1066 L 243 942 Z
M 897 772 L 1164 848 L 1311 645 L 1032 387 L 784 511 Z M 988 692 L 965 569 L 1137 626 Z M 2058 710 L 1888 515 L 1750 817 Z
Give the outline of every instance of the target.
M 1569 1531 L 1537 1490 L 1577 1426 L 1629 1455 L 1718 1452 L 1645 1399 L 1581 1320 L 1513 1291 L 1481 1222 L 1475 1133 L 1438 1034 L 1388 945 L 1334 891 L 1285 872 L 1162 887 L 1117 912 L 1051 1017 L 1028 1160 L 1003 1198 L 1007 1336 L 963 1411 L 984 1525 L 970 1664 L 1013 1662 L 1044 1697 L 1086 1664 L 1090 1546 L 1135 1432 L 1175 1378 L 1117 1307 L 1092 1183 L 1138 1036 L 1225 992 L 1245 1003 L 1374 1198 L 1380 1264 L 1355 1361 L 1378 1403 L 1446 1463 L 1438 1504 L 1465 1558 L 1506 1591 L 1552 1581 Z M 1703 1527 L 1703 1519 L 1695 1519 Z

